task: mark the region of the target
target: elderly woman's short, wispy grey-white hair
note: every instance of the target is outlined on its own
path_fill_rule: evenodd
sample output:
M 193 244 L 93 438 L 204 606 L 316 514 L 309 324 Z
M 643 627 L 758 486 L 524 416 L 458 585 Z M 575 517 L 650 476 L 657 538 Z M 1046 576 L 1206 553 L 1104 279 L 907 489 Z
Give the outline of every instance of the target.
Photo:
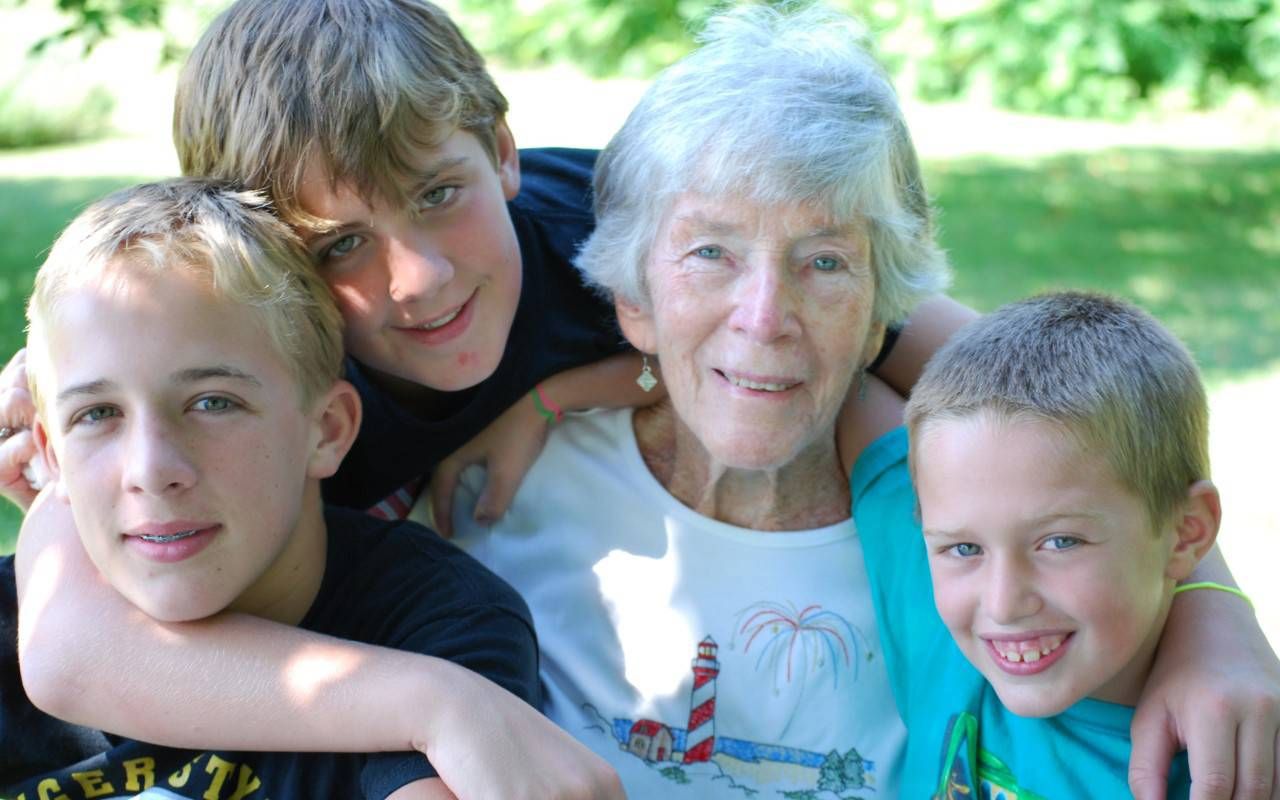
M 675 197 L 696 191 L 865 221 L 877 321 L 941 291 L 948 270 L 915 148 L 863 28 L 817 6 L 741 6 L 712 18 L 700 41 L 596 161 L 596 228 L 577 257 L 588 279 L 648 306 L 653 238 Z

